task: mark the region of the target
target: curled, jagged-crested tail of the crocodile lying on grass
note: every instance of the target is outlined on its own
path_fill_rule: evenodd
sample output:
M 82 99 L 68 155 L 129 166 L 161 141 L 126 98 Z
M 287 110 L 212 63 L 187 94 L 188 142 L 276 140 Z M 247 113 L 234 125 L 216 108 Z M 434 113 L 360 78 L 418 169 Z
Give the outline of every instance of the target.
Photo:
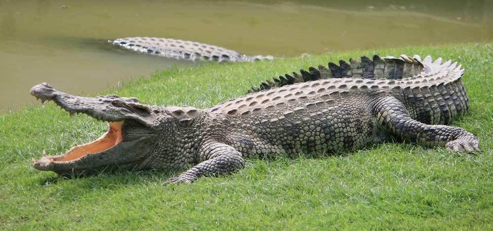
M 411 115 L 426 124 L 449 124 L 453 118 L 464 115 L 468 108 L 468 97 L 461 81 L 464 69 L 451 60 L 443 62 L 442 58 L 433 60 L 427 56 L 423 60 L 419 56 L 400 58 L 374 56 L 373 59 L 361 57 L 361 61 L 343 60 L 339 65 L 329 63 L 328 67 L 310 67 L 308 71 L 300 70 L 271 81 L 252 87 L 249 91 L 256 92 L 295 83 L 330 78 L 352 78 L 375 83 L 378 87 L 390 89 L 399 95 L 410 110 Z

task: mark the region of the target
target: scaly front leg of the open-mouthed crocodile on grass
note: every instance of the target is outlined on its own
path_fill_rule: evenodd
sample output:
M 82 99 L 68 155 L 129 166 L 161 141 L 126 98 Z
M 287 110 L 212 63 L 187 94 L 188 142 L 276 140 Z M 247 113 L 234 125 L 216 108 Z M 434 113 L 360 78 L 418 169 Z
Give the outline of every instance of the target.
M 208 160 L 199 163 L 193 168 L 179 174 L 176 177 L 168 179 L 165 184 L 169 183 L 190 183 L 198 177 L 204 175 L 217 175 L 231 173 L 245 166 L 245 160 L 234 147 L 212 143 L 201 148 L 200 156 L 209 157 Z

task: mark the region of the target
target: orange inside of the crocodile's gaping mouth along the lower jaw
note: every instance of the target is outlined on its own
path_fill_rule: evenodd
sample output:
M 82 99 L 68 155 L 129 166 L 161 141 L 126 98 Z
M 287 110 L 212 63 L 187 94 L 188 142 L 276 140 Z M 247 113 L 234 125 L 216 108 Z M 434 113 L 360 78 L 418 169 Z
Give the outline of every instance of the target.
M 91 155 L 106 151 L 117 144 L 119 144 L 123 140 L 122 135 L 122 127 L 123 121 L 118 122 L 108 122 L 109 129 L 97 140 L 87 143 L 80 144 L 70 148 L 69 151 L 65 154 L 56 155 L 56 156 L 47 156 L 43 151 L 43 157 L 41 159 L 34 161 L 34 166 L 42 167 L 49 165 L 54 162 L 70 162 L 73 160 L 77 160 L 83 156 Z M 38 169 L 38 168 L 36 168 Z

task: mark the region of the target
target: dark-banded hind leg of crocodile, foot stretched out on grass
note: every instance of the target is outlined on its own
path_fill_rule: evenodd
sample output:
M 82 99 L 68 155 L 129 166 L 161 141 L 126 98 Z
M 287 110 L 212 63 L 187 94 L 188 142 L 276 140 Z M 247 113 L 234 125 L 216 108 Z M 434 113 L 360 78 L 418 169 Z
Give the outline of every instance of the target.
M 428 125 L 414 120 L 393 96 L 381 97 L 372 110 L 378 124 L 395 136 L 424 146 L 445 146 L 459 155 L 462 151 L 481 151 L 479 141 L 472 133 L 459 127 Z

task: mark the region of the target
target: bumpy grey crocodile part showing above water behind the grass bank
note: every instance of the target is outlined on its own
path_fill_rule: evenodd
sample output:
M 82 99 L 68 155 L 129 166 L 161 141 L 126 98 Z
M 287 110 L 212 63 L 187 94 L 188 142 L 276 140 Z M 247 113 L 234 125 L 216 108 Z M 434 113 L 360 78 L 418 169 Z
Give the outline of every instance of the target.
M 149 55 L 188 60 L 219 62 L 252 62 L 273 59 L 272 56 L 246 56 L 222 47 L 171 38 L 128 37 L 110 40 L 116 46 Z

